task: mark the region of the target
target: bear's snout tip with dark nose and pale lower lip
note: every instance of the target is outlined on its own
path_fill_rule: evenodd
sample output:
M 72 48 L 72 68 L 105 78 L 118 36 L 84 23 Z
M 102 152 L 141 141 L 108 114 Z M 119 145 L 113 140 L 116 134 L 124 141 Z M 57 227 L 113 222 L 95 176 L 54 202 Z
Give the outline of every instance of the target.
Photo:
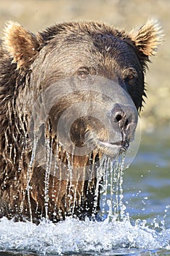
M 112 110 L 107 113 L 107 118 L 107 140 L 106 136 L 102 136 L 103 132 L 100 132 L 98 146 L 104 154 L 116 157 L 127 151 L 129 143 L 134 140 L 138 113 L 134 105 L 115 103 Z

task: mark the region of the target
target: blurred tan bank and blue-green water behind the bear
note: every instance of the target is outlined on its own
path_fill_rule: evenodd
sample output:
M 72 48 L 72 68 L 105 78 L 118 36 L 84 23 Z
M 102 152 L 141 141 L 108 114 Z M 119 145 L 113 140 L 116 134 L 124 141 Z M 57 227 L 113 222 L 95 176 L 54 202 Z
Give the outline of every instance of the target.
M 147 19 L 163 27 L 164 42 L 146 76 L 140 148 L 124 173 L 123 194 L 132 219 L 160 219 L 170 228 L 170 1 L 169 0 L 0 0 L 0 35 L 7 20 L 36 33 L 70 20 L 98 20 L 131 31 Z M 169 210 L 168 210 L 169 209 Z M 155 220 L 154 220 L 155 221 Z

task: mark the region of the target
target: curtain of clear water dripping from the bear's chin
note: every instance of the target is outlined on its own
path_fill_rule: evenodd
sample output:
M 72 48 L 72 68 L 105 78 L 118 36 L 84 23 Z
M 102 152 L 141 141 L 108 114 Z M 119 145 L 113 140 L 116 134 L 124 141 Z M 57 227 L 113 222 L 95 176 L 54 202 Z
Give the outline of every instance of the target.
M 99 168 L 99 172 L 103 173 L 100 200 L 102 219 L 112 221 L 113 218 L 116 218 L 120 221 L 125 217 L 123 204 L 124 159 L 125 154 L 121 154 L 116 160 L 105 156 Z

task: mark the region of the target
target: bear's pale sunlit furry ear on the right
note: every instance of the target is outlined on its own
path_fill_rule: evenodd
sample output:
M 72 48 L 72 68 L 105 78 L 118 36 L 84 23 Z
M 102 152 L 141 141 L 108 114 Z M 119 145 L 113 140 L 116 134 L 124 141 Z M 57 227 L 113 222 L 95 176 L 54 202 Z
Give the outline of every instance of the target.
M 163 41 L 161 26 L 154 19 L 147 20 L 140 29 L 133 29 L 128 36 L 144 56 L 155 55 L 158 45 Z

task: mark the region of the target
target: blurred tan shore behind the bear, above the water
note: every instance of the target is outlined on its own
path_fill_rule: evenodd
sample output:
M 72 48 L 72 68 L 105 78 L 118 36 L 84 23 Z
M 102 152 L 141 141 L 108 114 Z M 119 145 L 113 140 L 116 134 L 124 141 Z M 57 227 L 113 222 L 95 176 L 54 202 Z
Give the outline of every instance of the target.
M 130 31 L 148 18 L 161 23 L 165 40 L 147 71 L 147 99 L 141 113 L 141 128 L 152 132 L 170 127 L 170 1 L 169 0 L 5 0 L 0 1 L 0 34 L 7 20 L 28 30 L 42 31 L 69 20 L 99 20 Z M 169 129 L 170 131 L 170 129 Z

